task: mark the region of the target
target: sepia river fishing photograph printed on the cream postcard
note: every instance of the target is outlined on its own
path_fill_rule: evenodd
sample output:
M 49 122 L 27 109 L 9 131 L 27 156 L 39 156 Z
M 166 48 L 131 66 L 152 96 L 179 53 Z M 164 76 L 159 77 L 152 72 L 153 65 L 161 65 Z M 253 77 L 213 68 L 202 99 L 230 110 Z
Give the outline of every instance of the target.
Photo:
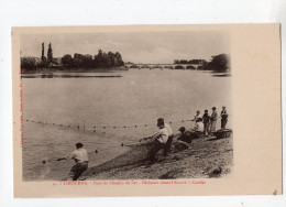
M 33 33 L 20 42 L 23 181 L 231 173 L 228 32 Z

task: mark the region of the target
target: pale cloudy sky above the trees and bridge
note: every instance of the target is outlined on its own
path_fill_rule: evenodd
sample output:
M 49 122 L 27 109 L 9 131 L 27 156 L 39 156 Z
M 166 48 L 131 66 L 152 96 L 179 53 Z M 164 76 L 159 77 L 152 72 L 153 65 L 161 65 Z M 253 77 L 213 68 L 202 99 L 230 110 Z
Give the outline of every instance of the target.
M 52 43 L 53 56 L 75 53 L 95 55 L 119 52 L 124 62 L 168 64 L 174 59 L 202 58 L 230 53 L 229 35 L 221 31 L 198 32 L 121 32 L 121 33 L 54 33 L 23 34 L 21 56 L 41 57 L 42 43 L 45 56 Z

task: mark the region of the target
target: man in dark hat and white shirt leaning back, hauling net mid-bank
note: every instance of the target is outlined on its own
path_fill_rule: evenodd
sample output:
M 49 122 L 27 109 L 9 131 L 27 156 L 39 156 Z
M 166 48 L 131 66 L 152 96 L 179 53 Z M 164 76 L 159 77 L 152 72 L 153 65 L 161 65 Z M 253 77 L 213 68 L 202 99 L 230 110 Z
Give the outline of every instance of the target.
M 148 155 L 152 163 L 155 162 L 155 155 L 161 149 L 164 149 L 164 156 L 167 156 L 173 140 L 173 131 L 170 127 L 164 122 L 163 118 L 157 119 L 157 127 L 160 131 L 156 133 L 154 148 Z

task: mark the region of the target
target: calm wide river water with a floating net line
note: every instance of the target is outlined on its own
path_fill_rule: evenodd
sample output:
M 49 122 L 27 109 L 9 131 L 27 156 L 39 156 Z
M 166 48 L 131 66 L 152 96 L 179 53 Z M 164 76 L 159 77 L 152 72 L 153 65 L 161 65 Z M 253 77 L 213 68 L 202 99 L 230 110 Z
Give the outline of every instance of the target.
M 173 69 L 130 69 L 110 73 L 113 77 L 107 77 L 109 73 L 98 76 L 102 73 L 22 78 L 24 181 L 66 177 L 73 161 L 55 159 L 75 150 L 77 142 L 84 143 L 89 166 L 95 166 L 156 132 L 160 117 L 172 122 L 177 133 L 180 126 L 194 127 L 194 122 L 183 120 L 193 119 L 196 110 L 208 109 L 210 113 L 216 106 L 220 112 L 227 106 L 231 115 L 228 76 Z M 43 160 L 47 162 L 43 164 Z

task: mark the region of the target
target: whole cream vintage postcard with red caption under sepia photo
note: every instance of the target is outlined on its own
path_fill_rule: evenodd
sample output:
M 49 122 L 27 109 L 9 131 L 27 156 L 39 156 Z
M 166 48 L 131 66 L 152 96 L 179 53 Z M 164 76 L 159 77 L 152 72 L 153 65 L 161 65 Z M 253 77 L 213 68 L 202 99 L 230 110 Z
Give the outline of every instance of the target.
M 279 29 L 13 28 L 14 197 L 282 194 Z

